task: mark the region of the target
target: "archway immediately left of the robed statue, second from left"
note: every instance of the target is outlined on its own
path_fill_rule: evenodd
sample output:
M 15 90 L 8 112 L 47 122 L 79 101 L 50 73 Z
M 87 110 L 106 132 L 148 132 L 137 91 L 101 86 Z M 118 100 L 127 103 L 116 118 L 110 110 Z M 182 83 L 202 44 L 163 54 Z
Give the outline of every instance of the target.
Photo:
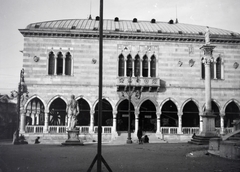
M 49 125 L 65 125 L 66 103 L 61 99 L 55 99 L 49 107 Z

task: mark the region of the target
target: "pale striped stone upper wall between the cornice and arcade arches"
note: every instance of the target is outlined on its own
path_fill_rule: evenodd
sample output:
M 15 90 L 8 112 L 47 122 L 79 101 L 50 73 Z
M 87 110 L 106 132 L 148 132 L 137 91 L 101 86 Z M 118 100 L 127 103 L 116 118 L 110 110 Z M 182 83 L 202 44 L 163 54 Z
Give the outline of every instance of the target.
M 214 44 L 213 57 L 220 54 L 224 60 L 224 79 L 212 80 L 212 98 L 220 106 L 220 111 L 229 100 L 240 102 L 240 45 Z M 128 50 L 122 48 L 126 46 Z M 104 40 L 103 42 L 103 97 L 107 98 L 116 108 L 119 101 L 117 93 L 118 56 L 120 53 L 131 53 L 134 58 L 138 53 L 143 57 L 155 54 L 157 58 L 157 77 L 165 82 L 166 88 L 160 92 L 144 92 L 143 99 L 156 99 L 160 106 L 164 100 L 171 98 L 178 109 L 188 99 L 198 102 L 199 110 L 204 105 L 204 80 L 201 79 L 201 58 L 203 53 L 199 43 L 180 42 L 147 42 L 127 40 Z M 149 50 L 150 47 L 150 51 Z M 98 57 L 99 44 L 97 39 L 69 38 L 24 38 L 23 68 L 29 95 L 37 95 L 47 105 L 51 99 L 60 95 L 66 100 L 70 95 L 83 96 L 93 107 L 98 99 Z M 123 51 L 122 51 L 123 50 Z M 73 57 L 73 76 L 49 76 L 48 53 L 70 52 Z M 40 60 L 35 62 L 34 56 Z M 150 57 L 150 56 L 148 56 Z M 189 65 L 189 60 L 195 63 Z M 96 60 L 94 64 L 93 61 Z M 179 61 L 182 65 L 179 65 Z M 240 104 L 238 104 L 240 106 Z

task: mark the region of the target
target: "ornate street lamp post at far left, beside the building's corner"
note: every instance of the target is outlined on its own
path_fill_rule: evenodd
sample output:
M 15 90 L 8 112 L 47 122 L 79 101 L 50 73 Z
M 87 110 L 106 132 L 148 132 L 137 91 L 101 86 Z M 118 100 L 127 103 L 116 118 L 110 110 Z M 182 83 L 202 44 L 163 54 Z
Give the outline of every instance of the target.
M 26 93 L 26 96 L 23 96 Z M 28 90 L 27 86 L 24 81 L 24 69 L 20 72 L 20 82 L 18 84 L 18 91 L 11 91 L 11 97 L 17 97 L 17 130 L 15 131 L 14 135 L 16 138 L 13 140 L 13 144 L 21 144 L 19 140 L 19 122 L 20 122 L 20 115 L 21 115 L 21 105 L 28 98 Z

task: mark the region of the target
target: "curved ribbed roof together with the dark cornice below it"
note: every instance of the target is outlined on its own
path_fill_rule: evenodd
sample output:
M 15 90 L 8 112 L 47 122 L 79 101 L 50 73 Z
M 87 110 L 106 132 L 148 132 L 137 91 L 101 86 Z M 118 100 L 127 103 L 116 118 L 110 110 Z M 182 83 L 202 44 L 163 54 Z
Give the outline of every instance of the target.
M 30 37 L 99 37 L 99 17 L 95 19 L 65 19 L 29 24 L 19 29 L 24 36 Z M 240 34 L 224 29 L 210 29 L 212 43 L 240 43 Z M 206 26 L 184 23 L 104 19 L 103 37 L 105 39 L 153 40 L 204 42 Z

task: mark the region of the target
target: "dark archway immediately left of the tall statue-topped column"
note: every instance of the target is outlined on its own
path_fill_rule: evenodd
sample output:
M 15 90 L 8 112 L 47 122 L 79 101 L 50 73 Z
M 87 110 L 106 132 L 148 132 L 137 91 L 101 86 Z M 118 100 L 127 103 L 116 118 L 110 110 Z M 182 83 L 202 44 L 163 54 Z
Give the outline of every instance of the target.
M 192 100 L 183 108 L 182 127 L 199 127 L 199 110 Z

